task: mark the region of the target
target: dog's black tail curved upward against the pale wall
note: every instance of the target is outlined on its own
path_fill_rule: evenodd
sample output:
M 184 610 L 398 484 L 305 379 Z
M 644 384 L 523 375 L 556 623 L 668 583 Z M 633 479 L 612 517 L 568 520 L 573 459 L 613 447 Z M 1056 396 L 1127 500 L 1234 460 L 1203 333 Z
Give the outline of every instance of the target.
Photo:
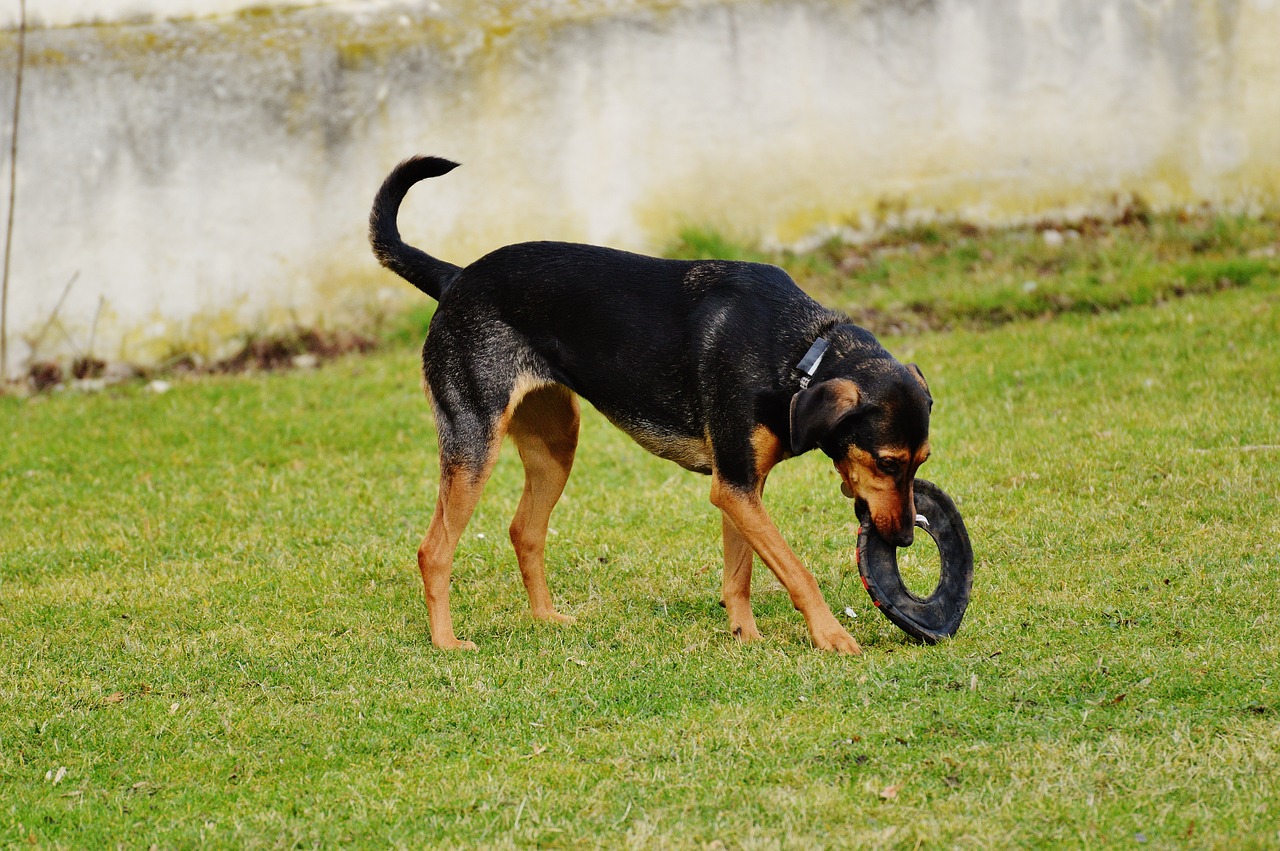
M 378 262 L 436 301 L 462 269 L 436 260 L 401 239 L 399 228 L 396 227 L 396 214 L 399 212 L 399 205 L 410 187 L 419 180 L 448 174 L 457 165 L 438 156 L 411 156 L 392 169 L 383 180 L 381 188 L 374 197 L 374 209 L 369 214 L 369 242 L 374 247 Z

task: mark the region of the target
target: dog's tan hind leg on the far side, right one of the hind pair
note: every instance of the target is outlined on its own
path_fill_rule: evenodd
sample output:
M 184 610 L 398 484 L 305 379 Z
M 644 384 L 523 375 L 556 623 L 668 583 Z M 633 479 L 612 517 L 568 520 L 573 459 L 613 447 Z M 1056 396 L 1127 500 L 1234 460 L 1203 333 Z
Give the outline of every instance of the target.
M 525 493 L 511 521 L 511 544 L 529 591 L 529 608 L 539 621 L 572 623 L 552 604 L 547 589 L 547 529 L 552 509 L 568 481 L 577 450 L 577 398 L 564 386 L 538 388 L 524 397 L 508 425 L 525 465 Z

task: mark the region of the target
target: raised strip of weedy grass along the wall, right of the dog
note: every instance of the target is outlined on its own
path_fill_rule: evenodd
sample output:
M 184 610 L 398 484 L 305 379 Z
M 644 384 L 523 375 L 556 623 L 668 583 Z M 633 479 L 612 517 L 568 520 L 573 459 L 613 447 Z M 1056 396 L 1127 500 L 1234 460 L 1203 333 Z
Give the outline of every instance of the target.
M 992 229 L 924 223 L 801 252 L 686 229 L 669 253 L 780 265 L 814 298 L 860 325 L 902 334 L 986 329 L 1253 287 L 1280 276 L 1277 224 L 1210 209 L 1156 215 L 1138 200 L 1110 221 Z

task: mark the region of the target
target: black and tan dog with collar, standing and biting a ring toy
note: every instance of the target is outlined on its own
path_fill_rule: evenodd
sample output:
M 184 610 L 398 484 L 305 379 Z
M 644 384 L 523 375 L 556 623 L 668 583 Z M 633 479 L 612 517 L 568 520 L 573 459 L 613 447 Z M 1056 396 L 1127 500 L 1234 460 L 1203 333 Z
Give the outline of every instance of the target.
M 760 495 L 774 465 L 818 447 L 879 534 L 909 544 L 911 482 L 929 454 L 932 399 L 920 371 L 774 266 L 559 242 L 507 246 L 466 269 L 436 260 L 401 239 L 396 216 L 410 187 L 454 166 L 406 160 L 369 221 L 378 260 L 439 301 L 422 371 L 440 440 L 440 498 L 417 552 L 431 641 L 475 646 L 453 632 L 449 575 L 504 435 L 525 466 L 511 541 L 532 614 L 570 621 L 552 605 L 543 552 L 573 465 L 581 395 L 649 452 L 710 475 L 735 636 L 760 637 L 750 604 L 755 552 L 818 648 L 859 653 Z

